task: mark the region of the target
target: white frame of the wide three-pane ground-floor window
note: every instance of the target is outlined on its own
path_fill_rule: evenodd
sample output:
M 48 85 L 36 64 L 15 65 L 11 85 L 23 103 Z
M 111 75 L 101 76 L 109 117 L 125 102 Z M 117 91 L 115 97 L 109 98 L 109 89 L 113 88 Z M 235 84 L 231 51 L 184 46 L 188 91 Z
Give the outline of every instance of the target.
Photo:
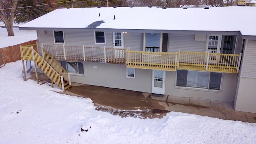
M 209 82 L 208 82 L 208 88 L 200 88 L 200 87 L 192 87 L 188 86 L 188 71 L 196 71 L 196 70 L 184 70 L 187 71 L 187 78 L 186 78 L 186 86 L 177 86 L 177 76 L 178 76 L 178 70 L 176 71 L 176 76 L 175 76 L 175 88 L 182 88 L 182 89 L 190 89 L 190 90 L 202 90 L 202 91 L 213 91 L 213 92 L 221 92 L 222 90 L 222 82 L 223 82 L 223 73 L 222 72 L 208 72 L 209 73 Z M 205 71 L 196 71 L 196 72 L 205 72 Z M 211 73 L 220 73 L 221 78 L 220 78 L 220 89 L 210 89 L 210 76 Z

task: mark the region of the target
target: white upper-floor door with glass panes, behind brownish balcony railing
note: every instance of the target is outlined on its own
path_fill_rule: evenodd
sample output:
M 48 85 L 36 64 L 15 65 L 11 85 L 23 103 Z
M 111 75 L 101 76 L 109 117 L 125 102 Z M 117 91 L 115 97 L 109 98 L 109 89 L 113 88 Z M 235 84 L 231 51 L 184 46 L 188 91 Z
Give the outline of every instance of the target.
M 122 32 L 113 32 L 113 48 L 124 48 Z M 124 50 L 114 50 L 114 58 L 124 58 Z

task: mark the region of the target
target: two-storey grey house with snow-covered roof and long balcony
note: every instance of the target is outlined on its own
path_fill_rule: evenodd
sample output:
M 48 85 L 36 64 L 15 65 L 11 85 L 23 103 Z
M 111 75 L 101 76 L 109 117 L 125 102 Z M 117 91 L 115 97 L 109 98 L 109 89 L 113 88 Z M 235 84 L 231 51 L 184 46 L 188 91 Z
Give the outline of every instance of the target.
M 240 6 L 56 9 L 20 26 L 37 31 L 43 56 L 23 58 L 40 59 L 39 67 L 54 58 L 49 66 L 67 70 L 69 83 L 234 102 L 235 110 L 256 113 L 255 13 Z

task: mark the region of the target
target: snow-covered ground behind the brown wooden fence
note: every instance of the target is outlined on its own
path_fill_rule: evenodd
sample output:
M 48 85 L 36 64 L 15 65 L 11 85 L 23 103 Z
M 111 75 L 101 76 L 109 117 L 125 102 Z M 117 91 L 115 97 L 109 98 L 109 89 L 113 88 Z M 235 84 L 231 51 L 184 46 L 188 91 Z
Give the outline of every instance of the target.
M 0 26 L 4 26 L 1 21 Z M 14 24 L 14 26 L 19 26 Z M 0 27 L 0 48 L 7 46 L 13 46 L 16 44 L 21 44 L 23 42 L 28 42 L 30 40 L 36 40 L 37 35 L 35 30 L 19 30 L 19 28 L 13 28 L 14 36 L 8 36 L 6 28 Z

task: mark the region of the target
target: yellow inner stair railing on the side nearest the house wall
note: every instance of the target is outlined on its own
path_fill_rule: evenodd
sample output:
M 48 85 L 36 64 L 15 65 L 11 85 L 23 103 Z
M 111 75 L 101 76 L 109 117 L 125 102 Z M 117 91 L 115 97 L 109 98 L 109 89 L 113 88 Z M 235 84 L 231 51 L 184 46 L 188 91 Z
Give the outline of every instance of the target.
M 43 50 L 43 58 L 50 66 L 54 68 L 61 76 L 63 76 L 64 80 L 70 84 L 70 77 L 68 76 L 68 72 L 58 63 L 46 50 Z M 71 85 L 71 84 L 70 84 Z

